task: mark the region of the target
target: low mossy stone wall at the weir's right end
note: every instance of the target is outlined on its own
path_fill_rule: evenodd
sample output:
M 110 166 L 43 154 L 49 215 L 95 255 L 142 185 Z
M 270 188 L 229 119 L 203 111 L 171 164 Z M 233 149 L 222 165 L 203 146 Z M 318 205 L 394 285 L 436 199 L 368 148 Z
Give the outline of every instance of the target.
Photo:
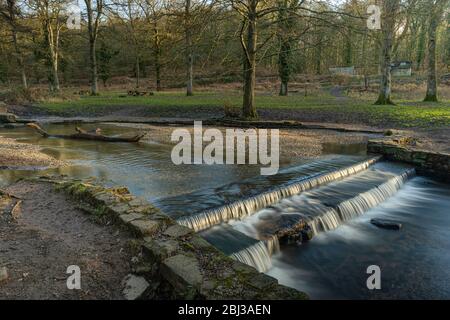
M 367 151 L 416 167 L 417 173 L 450 182 L 450 154 L 418 149 L 392 139 L 369 140 Z

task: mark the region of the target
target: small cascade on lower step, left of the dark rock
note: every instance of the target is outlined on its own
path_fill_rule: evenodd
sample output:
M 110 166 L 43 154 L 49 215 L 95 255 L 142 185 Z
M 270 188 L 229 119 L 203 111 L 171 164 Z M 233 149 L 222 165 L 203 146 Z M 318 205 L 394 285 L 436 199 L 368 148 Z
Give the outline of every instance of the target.
M 254 267 L 259 272 L 266 272 L 272 267 L 272 255 L 280 251 L 276 236 L 242 249 L 231 255 L 231 258 Z

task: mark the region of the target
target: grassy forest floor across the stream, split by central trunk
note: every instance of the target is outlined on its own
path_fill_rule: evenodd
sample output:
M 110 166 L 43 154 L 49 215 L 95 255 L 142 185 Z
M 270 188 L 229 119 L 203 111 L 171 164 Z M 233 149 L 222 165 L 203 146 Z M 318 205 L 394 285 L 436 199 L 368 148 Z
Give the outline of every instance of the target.
M 367 125 L 376 128 L 441 129 L 450 127 L 450 96 L 447 92 L 440 103 L 416 100 L 416 93 L 401 93 L 396 106 L 375 106 L 373 93 L 315 92 L 310 96 L 292 94 L 288 97 L 258 94 L 256 106 L 262 120 L 297 120 Z M 417 97 L 418 99 L 418 97 Z M 224 106 L 239 108 L 239 92 L 198 92 L 186 97 L 182 92 L 158 92 L 153 96 L 124 96 L 123 92 L 105 92 L 100 96 L 70 99 L 48 99 L 33 106 L 12 106 L 12 112 L 22 116 L 98 117 L 132 116 L 165 118 L 218 118 Z

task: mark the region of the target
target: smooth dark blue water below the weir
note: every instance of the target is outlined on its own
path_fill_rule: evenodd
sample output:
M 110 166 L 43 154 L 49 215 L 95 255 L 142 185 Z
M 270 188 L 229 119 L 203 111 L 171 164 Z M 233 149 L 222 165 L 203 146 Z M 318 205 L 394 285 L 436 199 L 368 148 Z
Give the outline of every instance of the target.
M 331 232 L 283 248 L 269 274 L 313 299 L 449 299 L 450 187 L 412 178 L 398 193 Z M 382 230 L 373 218 L 399 221 Z M 381 290 L 368 290 L 368 266 Z

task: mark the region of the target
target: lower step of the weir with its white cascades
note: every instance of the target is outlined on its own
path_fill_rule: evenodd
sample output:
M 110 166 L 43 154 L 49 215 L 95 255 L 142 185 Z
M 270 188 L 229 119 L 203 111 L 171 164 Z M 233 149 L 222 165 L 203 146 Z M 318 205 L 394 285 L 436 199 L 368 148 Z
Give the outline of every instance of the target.
M 397 171 L 398 169 L 393 168 L 392 170 Z M 271 268 L 270 257 L 279 250 L 271 250 L 270 246 L 271 243 L 276 243 L 276 248 L 279 248 L 279 239 L 276 234 L 280 228 L 284 230 L 293 228 L 294 231 L 299 232 L 294 229 L 294 226 L 303 225 L 301 223 L 303 221 L 305 226 L 312 229 L 314 235 L 319 232 L 334 230 L 394 196 L 414 175 L 414 169 L 405 169 L 398 174 L 374 170 L 359 177 L 352 177 L 348 179 L 349 181 L 343 183 L 336 182 L 335 186 L 327 187 L 327 189 L 335 189 L 336 194 L 330 194 L 331 199 L 336 195 L 342 197 L 342 190 L 339 190 L 339 185 L 341 185 L 341 188 L 342 186 L 347 188 L 346 184 L 356 184 L 358 188 L 362 185 L 368 185 L 368 189 L 366 188 L 366 191 L 363 189 L 361 193 L 351 198 L 347 196 L 347 199 L 336 202 L 333 206 L 323 201 L 317 201 L 315 198 L 318 194 L 323 196 L 327 192 L 312 192 L 311 195 L 305 195 L 302 199 L 284 199 L 282 203 L 275 207 L 260 211 L 258 215 L 234 225 L 234 233 L 239 231 L 240 234 L 245 234 L 253 239 L 261 239 L 261 241 L 241 249 L 231 256 L 264 272 Z M 369 177 L 371 183 L 368 181 Z M 263 217 L 259 217 L 260 214 Z M 223 228 L 223 226 L 220 228 Z M 224 231 L 227 229 L 225 228 Z M 221 246 L 220 243 L 215 245 L 219 248 Z

